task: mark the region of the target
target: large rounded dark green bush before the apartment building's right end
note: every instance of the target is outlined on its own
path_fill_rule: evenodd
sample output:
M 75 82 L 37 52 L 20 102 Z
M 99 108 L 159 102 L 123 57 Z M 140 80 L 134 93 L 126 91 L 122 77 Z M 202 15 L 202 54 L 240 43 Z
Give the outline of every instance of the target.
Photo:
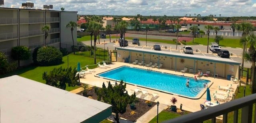
M 52 46 L 40 47 L 37 51 L 36 64 L 39 66 L 57 65 L 62 62 L 62 53 Z

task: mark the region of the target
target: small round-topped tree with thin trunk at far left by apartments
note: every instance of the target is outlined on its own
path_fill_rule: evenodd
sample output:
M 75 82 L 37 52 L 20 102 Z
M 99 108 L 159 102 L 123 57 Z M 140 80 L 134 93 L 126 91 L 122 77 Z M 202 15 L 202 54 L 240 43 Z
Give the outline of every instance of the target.
M 18 67 L 20 66 L 20 60 L 28 60 L 30 57 L 30 49 L 26 46 L 16 46 L 12 48 L 11 57 L 14 60 L 18 60 Z

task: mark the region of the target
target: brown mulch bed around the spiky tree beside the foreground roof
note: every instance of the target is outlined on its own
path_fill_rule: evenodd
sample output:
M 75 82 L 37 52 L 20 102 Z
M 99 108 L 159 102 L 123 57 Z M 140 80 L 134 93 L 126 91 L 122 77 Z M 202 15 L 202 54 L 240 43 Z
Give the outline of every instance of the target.
M 95 87 L 92 87 L 92 90 L 88 90 L 88 96 L 91 96 L 94 100 L 97 100 L 97 95 L 94 91 Z M 96 87 L 98 88 L 98 87 Z M 101 89 L 101 88 L 98 88 Z M 83 95 L 82 92 L 78 93 L 79 95 Z M 144 115 L 148 110 L 150 110 L 152 107 L 156 105 L 155 102 L 152 102 L 152 106 L 148 106 L 143 99 L 137 98 L 138 102 L 135 104 L 134 110 L 130 109 L 130 105 L 128 104 L 126 107 L 126 112 L 123 114 L 119 114 L 119 117 L 122 117 L 124 119 L 128 119 L 129 121 L 136 121 L 139 117 Z M 134 115 L 131 115 L 131 111 L 135 111 L 136 113 Z

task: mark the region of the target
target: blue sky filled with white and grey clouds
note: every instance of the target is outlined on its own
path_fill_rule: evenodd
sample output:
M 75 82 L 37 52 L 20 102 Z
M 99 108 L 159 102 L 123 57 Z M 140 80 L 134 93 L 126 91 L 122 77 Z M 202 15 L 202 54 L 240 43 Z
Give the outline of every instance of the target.
M 4 0 L 4 7 L 19 8 L 33 2 L 34 8 L 53 5 L 53 10 L 86 15 L 136 16 L 256 16 L 256 0 Z

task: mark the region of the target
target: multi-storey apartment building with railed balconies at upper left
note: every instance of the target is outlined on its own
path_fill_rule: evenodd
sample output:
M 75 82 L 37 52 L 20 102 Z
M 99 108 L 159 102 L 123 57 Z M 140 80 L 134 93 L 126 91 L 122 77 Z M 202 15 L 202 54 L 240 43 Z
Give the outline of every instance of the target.
M 66 28 L 69 21 L 76 22 L 77 12 L 36 10 L 20 8 L 0 8 L 0 51 L 10 55 L 12 47 L 28 46 L 32 51 L 38 46 L 51 45 L 71 50 L 72 35 Z M 49 25 L 50 30 L 45 40 L 41 30 Z M 76 27 L 73 37 L 76 43 Z

